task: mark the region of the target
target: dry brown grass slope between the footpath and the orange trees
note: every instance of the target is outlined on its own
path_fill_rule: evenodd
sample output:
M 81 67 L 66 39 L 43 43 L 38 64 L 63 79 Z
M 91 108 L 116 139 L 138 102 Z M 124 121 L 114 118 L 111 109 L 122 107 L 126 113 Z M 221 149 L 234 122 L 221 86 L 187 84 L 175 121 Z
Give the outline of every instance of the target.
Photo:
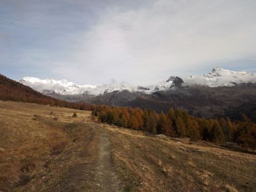
M 102 125 L 111 132 L 113 156 L 127 190 L 253 191 L 256 156 L 200 143 L 179 143 Z

